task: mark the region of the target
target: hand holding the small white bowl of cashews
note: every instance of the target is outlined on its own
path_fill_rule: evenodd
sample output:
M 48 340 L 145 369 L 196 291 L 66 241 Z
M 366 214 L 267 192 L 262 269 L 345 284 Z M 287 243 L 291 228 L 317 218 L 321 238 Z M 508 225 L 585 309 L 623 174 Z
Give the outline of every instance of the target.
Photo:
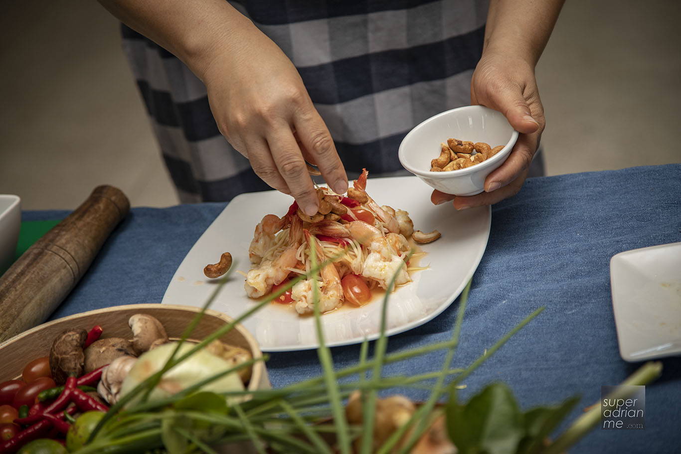
M 471 104 L 487 106 L 504 114 L 520 134 L 507 160 L 485 180 L 485 191 L 470 197 L 433 191 L 430 200 L 439 205 L 454 200 L 463 210 L 491 205 L 516 195 L 527 176 L 545 127 L 533 65 L 519 56 L 484 52 L 471 80 Z

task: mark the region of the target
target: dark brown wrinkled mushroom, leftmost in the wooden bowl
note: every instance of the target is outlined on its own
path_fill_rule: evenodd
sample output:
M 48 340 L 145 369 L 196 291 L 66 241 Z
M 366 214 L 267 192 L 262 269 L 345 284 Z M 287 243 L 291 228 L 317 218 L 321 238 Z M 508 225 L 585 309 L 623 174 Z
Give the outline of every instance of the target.
M 84 329 L 67 329 L 52 342 L 50 371 L 57 385 L 66 383 L 66 379 L 71 375 L 83 374 L 85 357 L 82 346 L 86 338 L 87 331 Z

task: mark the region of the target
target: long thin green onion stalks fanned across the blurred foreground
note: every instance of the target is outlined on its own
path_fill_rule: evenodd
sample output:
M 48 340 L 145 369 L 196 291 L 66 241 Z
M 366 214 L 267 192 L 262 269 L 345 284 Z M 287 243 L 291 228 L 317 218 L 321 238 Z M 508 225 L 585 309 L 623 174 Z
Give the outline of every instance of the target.
M 314 246 L 313 246 L 314 247 Z M 462 380 L 473 373 L 484 361 L 498 351 L 513 334 L 532 321 L 543 308 L 528 314 L 516 327 L 496 342 L 483 355 L 466 368 L 451 368 L 451 363 L 459 343 L 464 320 L 466 301 L 471 290 L 469 281 L 459 299 L 456 323 L 452 337 L 407 351 L 387 353 L 386 320 L 390 289 L 394 278 L 383 298 L 381 324 L 373 357 L 368 355 L 368 340 L 360 346 L 358 362 L 345 368 L 334 366 L 329 347 L 324 340 L 319 306 L 315 304 L 315 329 L 319 340 L 317 355 L 321 364 L 321 376 L 302 380 L 280 389 L 257 389 L 232 391 L 229 393 L 209 393 L 202 387 L 225 374 L 237 372 L 240 368 L 253 366 L 254 361 L 240 364 L 235 368 L 215 374 L 191 387 L 187 387 L 168 398 L 153 400 L 151 391 L 159 383 L 165 372 L 185 361 L 188 357 L 204 348 L 212 340 L 221 338 L 238 323 L 250 317 L 257 310 L 269 304 L 272 299 L 301 279 L 313 278 L 317 282 L 319 271 L 333 259 L 315 263 L 315 253 L 311 254 L 311 272 L 291 280 L 277 293 L 270 295 L 247 310 L 231 323 L 225 324 L 186 353 L 180 354 L 180 346 L 191 336 L 205 310 L 212 304 L 221 288 L 229 279 L 229 274 L 221 278 L 215 291 L 206 300 L 200 312 L 183 332 L 178 346 L 164 366 L 146 378 L 129 393 L 123 395 L 89 437 L 84 447 L 76 454 L 148 454 L 167 452 L 170 454 L 218 453 L 224 452 L 218 446 L 231 446 L 234 452 L 241 452 L 244 443 L 259 454 L 266 453 L 409 453 L 411 447 L 426 432 L 436 405 L 460 387 Z M 234 269 L 234 266 L 232 266 Z M 319 300 L 319 288 L 313 285 L 315 301 Z M 414 357 L 434 351 L 444 351 L 440 370 L 424 372 L 411 376 L 383 376 L 385 364 L 409 361 Z M 266 360 L 264 357 L 262 360 Z M 645 384 L 659 375 L 660 366 L 644 367 L 625 384 Z M 370 376 L 367 376 L 369 374 Z M 351 383 L 339 383 L 339 378 L 355 377 Z M 434 384 L 430 384 L 434 380 Z M 447 383 L 449 382 L 449 383 Z M 383 446 L 373 447 L 375 408 L 378 392 L 394 387 L 430 390 L 430 396 L 413 412 L 407 423 L 399 427 L 387 438 Z M 362 395 L 362 427 L 351 425 L 345 417 L 344 402 L 353 391 Z M 619 395 L 619 394 L 618 394 Z M 138 398 L 141 396 L 142 398 Z M 135 400 L 135 398 L 138 398 Z M 219 404 L 216 404 L 219 402 Z M 227 404 L 229 402 L 229 405 Z M 236 403 L 234 403 L 236 402 Z M 554 438 L 545 454 L 560 453 L 582 438 L 597 423 L 597 408 L 577 419 L 562 435 Z M 361 437 L 359 444 L 355 441 Z M 241 447 L 241 448 L 239 448 Z M 355 451 L 355 449 L 357 449 Z M 160 450 L 160 451 L 159 451 Z M 472 452 L 472 451 L 471 451 Z

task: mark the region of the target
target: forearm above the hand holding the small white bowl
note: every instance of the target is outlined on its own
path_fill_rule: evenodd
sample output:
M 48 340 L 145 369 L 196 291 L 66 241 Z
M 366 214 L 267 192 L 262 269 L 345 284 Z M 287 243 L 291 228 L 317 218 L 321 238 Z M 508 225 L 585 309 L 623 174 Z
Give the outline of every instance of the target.
M 490 0 L 484 50 L 520 56 L 533 67 L 565 0 Z

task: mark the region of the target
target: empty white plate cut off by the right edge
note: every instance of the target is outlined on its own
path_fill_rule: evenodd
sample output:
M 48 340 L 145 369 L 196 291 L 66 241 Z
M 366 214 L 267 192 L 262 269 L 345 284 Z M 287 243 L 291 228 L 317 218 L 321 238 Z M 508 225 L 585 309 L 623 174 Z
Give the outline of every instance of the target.
M 615 255 L 610 285 L 622 359 L 681 355 L 681 242 Z

